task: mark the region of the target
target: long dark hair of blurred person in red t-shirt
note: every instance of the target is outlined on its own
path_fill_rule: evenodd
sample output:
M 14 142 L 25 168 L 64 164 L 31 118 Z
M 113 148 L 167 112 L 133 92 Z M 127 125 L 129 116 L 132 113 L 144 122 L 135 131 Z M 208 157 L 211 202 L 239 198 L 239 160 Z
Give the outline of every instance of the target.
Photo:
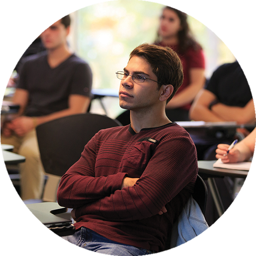
M 198 44 L 197 41 L 195 41 L 194 36 L 192 35 L 192 32 L 189 28 L 189 23 L 187 21 L 187 12 L 184 6 L 173 3 L 169 4 L 168 6 L 165 6 L 164 9 L 169 9 L 171 11 L 176 12 L 180 19 L 180 26 L 182 29 L 178 32 L 178 41 L 179 41 L 179 47 L 178 50 L 180 53 L 183 53 L 188 49 L 188 47 L 193 47 L 195 50 L 202 49 L 201 45 Z M 161 38 L 159 35 L 159 32 L 157 32 L 157 38 L 154 42 L 155 44 L 160 43 Z

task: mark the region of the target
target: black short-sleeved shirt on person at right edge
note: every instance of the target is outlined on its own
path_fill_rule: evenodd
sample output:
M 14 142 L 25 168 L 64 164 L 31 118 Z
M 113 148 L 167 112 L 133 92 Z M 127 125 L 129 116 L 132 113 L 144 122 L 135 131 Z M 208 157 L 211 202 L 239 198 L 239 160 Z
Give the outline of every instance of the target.
M 206 89 L 225 105 L 244 107 L 256 97 L 256 68 L 248 70 L 244 61 L 221 65 L 212 74 Z

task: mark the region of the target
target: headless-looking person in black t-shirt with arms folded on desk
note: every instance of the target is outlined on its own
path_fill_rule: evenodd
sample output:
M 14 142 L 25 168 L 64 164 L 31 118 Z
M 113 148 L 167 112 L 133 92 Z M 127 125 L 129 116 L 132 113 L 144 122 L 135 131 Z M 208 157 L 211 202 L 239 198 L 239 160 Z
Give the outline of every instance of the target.
M 246 59 L 215 70 L 190 109 L 192 120 L 256 122 L 256 9 L 242 15 L 239 45 Z

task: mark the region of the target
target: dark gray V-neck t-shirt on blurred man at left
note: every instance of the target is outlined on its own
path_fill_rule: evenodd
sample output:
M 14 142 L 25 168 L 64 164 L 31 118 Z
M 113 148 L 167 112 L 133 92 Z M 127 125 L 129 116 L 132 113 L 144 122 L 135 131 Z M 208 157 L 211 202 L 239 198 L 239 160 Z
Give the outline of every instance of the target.
M 70 94 L 90 97 L 91 87 L 91 69 L 81 58 L 73 54 L 51 68 L 46 52 L 27 58 L 17 85 L 29 92 L 26 116 L 45 116 L 64 110 L 68 108 Z

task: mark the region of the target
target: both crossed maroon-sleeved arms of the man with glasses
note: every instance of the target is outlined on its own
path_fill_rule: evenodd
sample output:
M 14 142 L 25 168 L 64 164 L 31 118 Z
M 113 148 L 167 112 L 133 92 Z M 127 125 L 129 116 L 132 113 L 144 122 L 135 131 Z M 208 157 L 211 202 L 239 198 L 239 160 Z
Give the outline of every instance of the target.
M 184 147 L 175 151 L 177 157 L 169 152 L 166 152 L 168 157 L 163 157 L 162 150 L 156 150 L 134 186 L 124 187 L 128 172 L 116 172 L 115 167 L 105 166 L 106 176 L 95 177 L 96 142 L 97 134 L 85 146 L 80 160 L 62 177 L 58 188 L 58 203 L 75 208 L 78 220 L 90 214 L 109 221 L 140 220 L 157 215 L 196 177 L 194 148 L 188 146 L 186 139 L 182 139 L 187 156 L 184 161 L 178 160 L 184 154 Z M 172 148 L 168 143 L 159 144 L 157 149 Z

